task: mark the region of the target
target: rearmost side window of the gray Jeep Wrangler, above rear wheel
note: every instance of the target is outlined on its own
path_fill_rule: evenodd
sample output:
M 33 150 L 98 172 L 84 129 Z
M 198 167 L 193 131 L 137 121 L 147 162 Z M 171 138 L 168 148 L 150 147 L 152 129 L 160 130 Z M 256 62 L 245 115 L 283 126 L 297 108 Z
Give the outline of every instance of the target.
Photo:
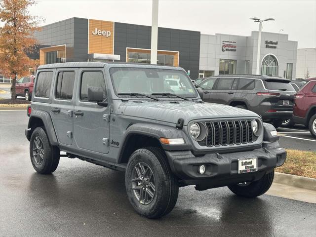
M 35 96 L 48 98 L 52 79 L 53 72 L 40 72 L 37 78 Z

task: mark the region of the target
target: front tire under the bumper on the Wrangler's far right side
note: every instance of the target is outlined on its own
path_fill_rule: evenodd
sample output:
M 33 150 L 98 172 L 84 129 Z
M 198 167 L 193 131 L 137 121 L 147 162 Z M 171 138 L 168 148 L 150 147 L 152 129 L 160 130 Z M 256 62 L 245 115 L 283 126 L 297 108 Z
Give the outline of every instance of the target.
M 240 183 L 240 184 L 233 184 L 227 186 L 234 194 L 240 197 L 258 197 L 266 193 L 272 183 L 273 178 L 275 176 L 275 171 L 273 170 L 270 173 L 265 174 L 261 179 L 258 181 L 250 182 L 250 183 Z

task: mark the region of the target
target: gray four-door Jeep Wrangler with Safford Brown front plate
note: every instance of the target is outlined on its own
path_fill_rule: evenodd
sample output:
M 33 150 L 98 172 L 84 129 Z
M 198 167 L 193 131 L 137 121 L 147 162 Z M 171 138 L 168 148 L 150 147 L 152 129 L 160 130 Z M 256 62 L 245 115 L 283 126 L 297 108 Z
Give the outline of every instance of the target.
M 125 171 L 130 203 L 148 218 L 168 214 L 187 185 L 262 195 L 286 158 L 273 125 L 248 110 L 204 103 L 182 68 L 40 66 L 28 116 L 37 172 L 53 172 L 64 156 Z

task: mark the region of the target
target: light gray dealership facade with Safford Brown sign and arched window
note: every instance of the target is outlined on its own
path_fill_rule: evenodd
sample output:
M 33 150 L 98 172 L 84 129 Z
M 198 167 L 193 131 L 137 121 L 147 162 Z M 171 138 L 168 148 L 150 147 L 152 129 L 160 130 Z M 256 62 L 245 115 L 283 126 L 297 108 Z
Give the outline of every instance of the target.
M 256 74 L 258 31 L 251 36 L 225 34 L 200 38 L 199 78 L 225 74 Z M 295 79 L 297 41 L 288 35 L 262 32 L 261 75 Z

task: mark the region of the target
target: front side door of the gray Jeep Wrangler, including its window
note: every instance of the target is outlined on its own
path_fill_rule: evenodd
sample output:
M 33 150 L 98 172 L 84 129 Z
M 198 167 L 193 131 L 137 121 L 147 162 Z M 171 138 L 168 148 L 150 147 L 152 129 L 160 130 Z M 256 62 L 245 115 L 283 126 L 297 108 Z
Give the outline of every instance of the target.
M 88 101 L 88 87 L 102 87 L 104 100 L 107 90 L 103 68 L 79 70 L 74 108 L 74 138 L 79 149 L 87 153 L 109 152 L 110 103 L 107 107 Z M 101 154 L 100 154 L 101 155 Z

